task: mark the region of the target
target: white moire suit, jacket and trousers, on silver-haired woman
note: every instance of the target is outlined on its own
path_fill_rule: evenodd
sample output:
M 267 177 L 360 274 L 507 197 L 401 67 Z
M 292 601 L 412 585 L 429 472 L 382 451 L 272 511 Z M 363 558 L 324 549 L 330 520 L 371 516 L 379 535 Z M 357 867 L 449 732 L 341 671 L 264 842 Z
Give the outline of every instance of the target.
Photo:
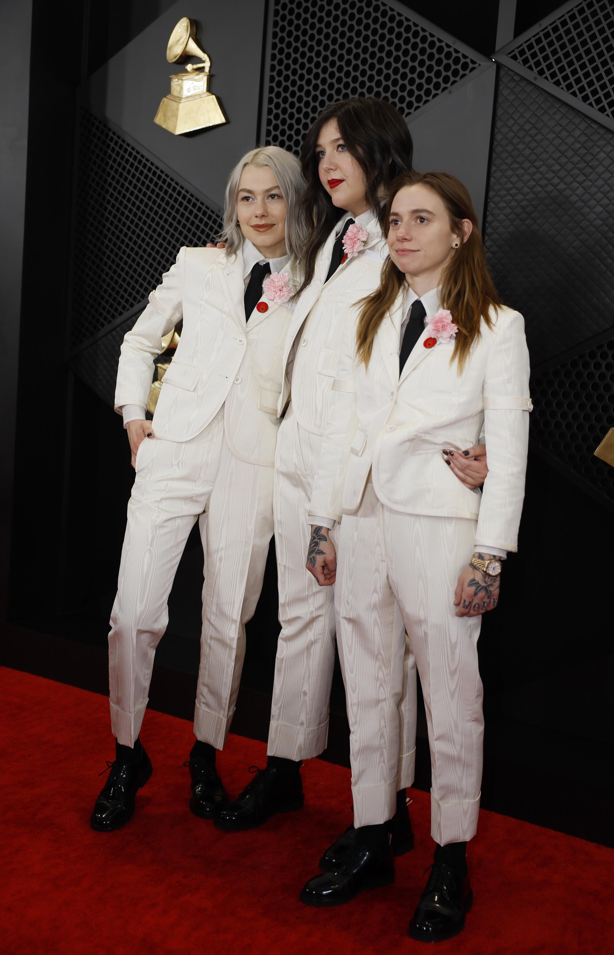
M 296 278 L 290 268 L 291 282 Z M 273 534 L 281 355 L 291 310 L 262 296 L 246 324 L 241 252 L 182 248 L 122 346 L 115 406 L 144 406 L 162 335 L 181 341 L 136 457 L 118 592 L 110 685 L 113 732 L 132 746 L 147 705 L 168 596 L 194 522 L 205 553 L 194 732 L 221 749 L 235 709 L 245 624 Z

